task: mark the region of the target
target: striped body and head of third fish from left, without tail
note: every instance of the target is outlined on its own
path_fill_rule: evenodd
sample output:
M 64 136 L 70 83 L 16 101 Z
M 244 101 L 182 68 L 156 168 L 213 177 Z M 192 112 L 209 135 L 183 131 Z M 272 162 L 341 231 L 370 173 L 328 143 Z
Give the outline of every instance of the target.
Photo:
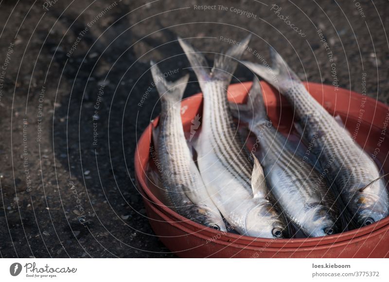
M 283 212 L 309 236 L 325 235 L 323 231 L 328 227 L 339 230 L 340 226 L 334 224 L 339 216 L 335 197 L 320 173 L 285 148 L 288 141 L 274 127 L 263 123 L 252 131 L 262 136 L 260 160 Z M 307 216 L 309 213 L 313 215 Z M 319 219 L 319 216 L 323 218 Z M 317 222 L 319 229 L 309 222 L 312 218 L 321 220 Z

